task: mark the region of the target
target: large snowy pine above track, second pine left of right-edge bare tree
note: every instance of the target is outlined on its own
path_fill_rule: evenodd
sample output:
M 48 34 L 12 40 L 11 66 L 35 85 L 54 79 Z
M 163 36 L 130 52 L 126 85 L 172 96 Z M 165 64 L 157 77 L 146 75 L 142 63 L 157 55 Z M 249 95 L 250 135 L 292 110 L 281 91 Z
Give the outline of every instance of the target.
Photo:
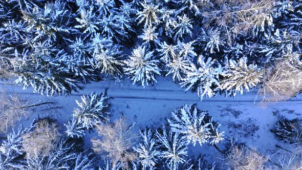
M 185 91 L 192 90 L 197 91 L 198 97 L 202 100 L 206 95 L 208 97 L 213 97 L 215 95 L 213 91 L 213 86 L 218 87 L 219 84 L 219 74 L 222 72 L 221 65 L 208 58 L 201 55 L 198 59 L 199 68 L 191 64 L 187 72 L 187 76 L 182 79 L 183 82 L 180 83 L 181 87 L 186 87 Z

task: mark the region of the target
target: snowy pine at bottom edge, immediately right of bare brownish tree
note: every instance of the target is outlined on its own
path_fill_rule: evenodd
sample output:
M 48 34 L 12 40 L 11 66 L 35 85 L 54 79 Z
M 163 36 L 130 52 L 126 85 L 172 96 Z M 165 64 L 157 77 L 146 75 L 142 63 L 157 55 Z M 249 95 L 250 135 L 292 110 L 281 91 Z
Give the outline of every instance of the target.
M 152 130 L 144 130 L 141 132 L 141 136 L 143 141 L 134 148 L 134 151 L 138 153 L 143 170 L 153 169 L 157 165 L 160 157 L 160 151 L 154 139 L 154 134 Z

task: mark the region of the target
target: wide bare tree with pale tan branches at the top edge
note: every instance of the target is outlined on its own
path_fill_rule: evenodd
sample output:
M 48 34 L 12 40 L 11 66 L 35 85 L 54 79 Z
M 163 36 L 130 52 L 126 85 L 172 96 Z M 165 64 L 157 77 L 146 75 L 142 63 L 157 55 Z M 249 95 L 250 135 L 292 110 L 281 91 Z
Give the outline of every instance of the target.
M 199 1 L 197 4 L 204 17 L 206 27 L 213 24 L 224 29 L 231 39 L 231 32 L 247 32 L 251 28 L 272 25 L 270 15 L 273 0 L 239 0 L 239 1 Z

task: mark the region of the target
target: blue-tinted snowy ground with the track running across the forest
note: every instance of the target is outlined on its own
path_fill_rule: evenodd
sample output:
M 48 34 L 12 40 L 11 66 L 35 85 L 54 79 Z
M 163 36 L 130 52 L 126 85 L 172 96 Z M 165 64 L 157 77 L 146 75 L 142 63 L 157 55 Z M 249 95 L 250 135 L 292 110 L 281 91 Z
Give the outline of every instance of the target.
M 198 103 L 201 110 L 208 111 L 213 116 L 214 121 L 222 124 L 221 130 L 225 131 L 225 141 L 218 144 L 223 148 L 228 138 L 234 137 L 238 142 L 245 142 L 247 146 L 254 147 L 263 155 L 271 155 L 278 148 L 276 144 L 284 145 L 277 141 L 274 134 L 270 132 L 277 116 L 273 112 L 289 118 L 301 117 L 302 114 L 302 96 L 297 96 L 289 101 L 278 103 L 254 102 L 256 92 L 250 92 L 244 95 L 237 95 L 234 98 L 225 98 L 224 96 L 215 96 L 205 98 L 203 101 L 197 97 L 196 93 L 184 92 L 177 84 L 172 82 L 169 77 L 158 79 L 154 86 L 145 88 L 133 85 L 128 79 L 122 80 L 117 84 L 114 81 L 93 82 L 85 85 L 85 89 L 73 93 L 70 96 L 47 97 L 33 93 L 32 89 L 22 90 L 22 87 L 13 86 L 9 82 L 2 82 L 1 88 L 11 93 L 16 93 L 23 99 L 32 102 L 53 101 L 55 104 L 48 105 L 48 108 L 35 108 L 27 118 L 21 121 L 25 126 L 37 117 L 50 116 L 58 120 L 60 124 L 67 123 L 71 118 L 73 108 L 77 107 L 75 100 L 80 100 L 81 95 L 91 92 L 103 92 L 109 88 L 108 95 L 114 97 L 111 100 L 112 119 L 120 115 L 126 116 L 131 122 L 136 122 L 137 129 L 144 129 L 146 126 L 157 128 L 169 118 L 170 112 L 183 104 Z M 59 108 L 55 108 L 59 107 Z M 62 130 L 64 126 L 61 126 Z M 85 146 L 90 147 L 90 139 L 96 135 L 91 132 L 85 136 Z M 286 147 L 286 146 L 284 146 Z M 210 145 L 190 146 L 189 155 L 198 156 L 206 154 L 207 160 L 211 162 L 220 162 L 219 152 Z

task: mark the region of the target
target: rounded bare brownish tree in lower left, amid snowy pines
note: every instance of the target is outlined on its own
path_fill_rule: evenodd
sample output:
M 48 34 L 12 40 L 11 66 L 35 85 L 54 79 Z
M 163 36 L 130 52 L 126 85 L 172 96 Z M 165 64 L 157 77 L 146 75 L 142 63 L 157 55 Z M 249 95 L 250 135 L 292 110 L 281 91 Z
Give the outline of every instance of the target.
M 33 131 L 23 135 L 23 150 L 27 157 L 34 155 L 48 156 L 58 140 L 59 132 L 56 123 L 41 119 L 35 124 Z

